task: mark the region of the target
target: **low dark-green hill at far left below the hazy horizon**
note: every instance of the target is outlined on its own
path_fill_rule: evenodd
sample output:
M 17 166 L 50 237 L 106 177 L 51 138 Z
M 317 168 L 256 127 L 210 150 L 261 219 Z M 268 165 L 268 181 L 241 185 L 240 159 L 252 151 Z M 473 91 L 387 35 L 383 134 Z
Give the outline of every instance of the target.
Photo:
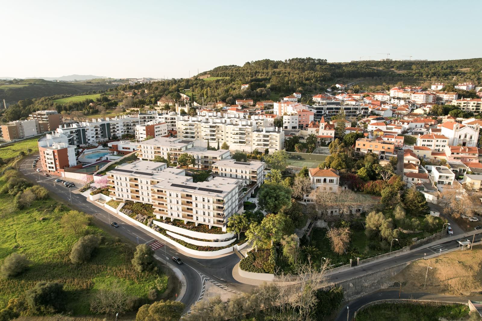
M 0 85 L 0 101 L 5 99 L 7 103 L 16 103 L 24 99 L 61 94 L 75 95 L 113 87 L 116 85 L 108 85 L 105 82 L 56 82 L 45 79 L 23 79 L 13 84 Z

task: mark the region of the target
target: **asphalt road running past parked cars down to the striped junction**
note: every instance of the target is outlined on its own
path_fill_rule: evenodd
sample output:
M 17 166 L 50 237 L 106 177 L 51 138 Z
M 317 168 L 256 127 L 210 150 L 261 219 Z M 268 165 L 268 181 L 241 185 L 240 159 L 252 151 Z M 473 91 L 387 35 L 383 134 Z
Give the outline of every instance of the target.
M 78 193 L 69 193 L 69 189 L 66 188 L 62 183 L 56 183 L 54 181 L 58 178 L 57 176 L 51 175 L 50 177 L 45 177 L 42 173 L 37 173 L 35 169 L 32 168 L 33 160 L 37 156 L 38 154 L 30 155 L 19 165 L 20 172 L 29 180 L 36 181 L 37 184 L 44 186 L 50 192 L 55 193 L 64 201 L 71 202 L 72 205 L 77 207 L 79 210 L 93 215 L 95 219 L 105 223 L 106 228 L 112 229 L 114 234 L 119 233 L 132 240 L 134 243 L 138 242 L 139 244 L 151 244 L 152 242 L 158 240 L 153 234 L 131 225 L 129 222 L 126 222 L 121 218 L 116 217 L 114 214 L 111 214 L 104 209 L 88 202 L 84 196 Z M 80 187 L 79 184 L 76 185 L 77 186 L 72 190 Z M 112 227 L 110 225 L 110 222 L 112 221 L 117 222 L 120 227 Z M 164 244 L 162 240 L 158 241 Z M 184 263 L 178 265 L 178 268 L 184 274 L 187 281 L 186 294 L 181 300 L 181 302 L 186 305 L 186 312 L 189 310 L 192 304 L 202 299 L 202 296 L 204 295 L 205 282 L 209 282 L 210 280 L 217 282 L 219 284 L 218 286 L 223 286 L 223 289 L 232 293 L 250 292 L 253 289 L 252 285 L 240 283 L 232 277 L 232 269 L 240 260 L 235 254 L 214 259 L 193 258 L 187 257 L 181 254 L 176 248 L 165 244 L 159 249 L 156 249 L 155 254 L 162 258 L 166 258 L 167 256 L 168 259 L 171 259 L 173 256 L 177 256 L 183 260 Z

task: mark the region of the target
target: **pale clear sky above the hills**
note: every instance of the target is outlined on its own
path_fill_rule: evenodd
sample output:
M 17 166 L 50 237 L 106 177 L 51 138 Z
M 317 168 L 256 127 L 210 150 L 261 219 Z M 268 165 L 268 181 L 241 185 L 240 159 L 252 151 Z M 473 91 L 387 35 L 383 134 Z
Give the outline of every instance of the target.
M 2 1 L 0 77 L 189 77 L 294 57 L 479 58 L 481 0 Z

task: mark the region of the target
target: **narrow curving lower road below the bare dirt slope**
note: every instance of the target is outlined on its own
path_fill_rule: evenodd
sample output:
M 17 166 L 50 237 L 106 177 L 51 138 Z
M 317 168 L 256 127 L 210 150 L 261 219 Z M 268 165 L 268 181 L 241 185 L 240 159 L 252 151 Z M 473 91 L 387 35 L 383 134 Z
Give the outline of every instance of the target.
M 344 305 L 343 308 L 341 308 L 340 313 L 338 313 L 338 316 L 336 317 L 335 320 L 346 321 L 347 313 L 349 313 L 348 320 L 352 320 L 355 311 L 369 302 L 385 300 L 385 299 L 398 299 L 398 298 L 399 298 L 399 290 L 394 290 L 394 289 L 380 290 L 369 295 L 364 295 L 361 298 L 353 300 L 348 304 Z M 438 295 L 438 294 L 431 294 L 431 293 L 404 293 L 402 291 L 400 294 L 400 298 L 467 303 L 468 300 L 480 301 L 482 299 L 482 295 L 448 296 L 448 295 Z M 347 307 L 349 309 L 347 309 Z

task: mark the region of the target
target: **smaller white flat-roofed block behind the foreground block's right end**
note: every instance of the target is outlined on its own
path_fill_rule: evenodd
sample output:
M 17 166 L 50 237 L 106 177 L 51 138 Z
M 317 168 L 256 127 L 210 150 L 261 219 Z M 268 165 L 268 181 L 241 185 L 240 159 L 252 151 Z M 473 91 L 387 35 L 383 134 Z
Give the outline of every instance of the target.
M 261 186 L 265 180 L 264 162 L 237 162 L 235 159 L 223 159 L 213 164 L 213 173 L 217 176 L 242 180 L 244 185 Z

